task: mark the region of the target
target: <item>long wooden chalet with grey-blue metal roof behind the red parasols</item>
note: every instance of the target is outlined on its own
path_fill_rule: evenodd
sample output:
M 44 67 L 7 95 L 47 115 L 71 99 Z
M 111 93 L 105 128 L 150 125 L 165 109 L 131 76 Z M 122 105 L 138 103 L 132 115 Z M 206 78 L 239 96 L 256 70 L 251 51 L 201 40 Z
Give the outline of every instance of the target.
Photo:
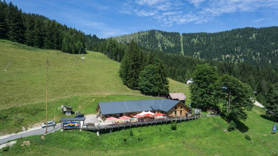
M 171 99 L 99 102 L 96 108 L 100 118 L 134 116 L 143 111 L 163 113 L 167 117 L 187 116 L 192 110 L 183 102 Z

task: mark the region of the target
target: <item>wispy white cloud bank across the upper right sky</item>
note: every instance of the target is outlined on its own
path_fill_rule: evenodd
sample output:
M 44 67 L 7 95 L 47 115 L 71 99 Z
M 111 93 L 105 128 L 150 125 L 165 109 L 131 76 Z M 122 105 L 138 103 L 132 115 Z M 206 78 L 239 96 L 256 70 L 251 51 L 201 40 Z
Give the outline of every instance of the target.
M 119 12 L 151 17 L 162 26 L 173 26 L 205 23 L 224 14 L 277 10 L 276 6 L 278 0 L 135 0 L 123 3 Z

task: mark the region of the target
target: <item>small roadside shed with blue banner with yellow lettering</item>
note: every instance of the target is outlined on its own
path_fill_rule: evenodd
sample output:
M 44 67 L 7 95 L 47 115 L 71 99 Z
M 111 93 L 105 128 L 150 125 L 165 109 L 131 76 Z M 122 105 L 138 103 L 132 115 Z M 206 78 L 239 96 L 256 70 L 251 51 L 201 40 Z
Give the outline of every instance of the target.
M 86 118 L 61 118 L 61 131 L 67 129 L 81 129 Z

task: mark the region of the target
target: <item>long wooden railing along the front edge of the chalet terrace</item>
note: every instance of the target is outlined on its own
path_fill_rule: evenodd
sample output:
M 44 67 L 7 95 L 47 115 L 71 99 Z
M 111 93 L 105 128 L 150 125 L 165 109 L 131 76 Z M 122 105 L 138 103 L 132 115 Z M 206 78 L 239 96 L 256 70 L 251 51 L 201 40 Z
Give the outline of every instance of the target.
M 177 116 L 177 117 L 171 117 L 171 118 L 161 118 L 161 119 L 155 119 L 155 120 L 145 120 L 145 121 L 134 121 L 134 122 L 125 122 L 125 123 L 114 123 L 109 125 L 82 125 L 83 130 L 103 130 L 103 129 L 112 129 L 113 128 L 125 128 L 125 127 L 131 127 L 131 126 L 143 126 L 148 124 L 157 124 L 157 123 L 163 123 L 168 121 L 186 121 L 186 120 L 192 120 L 192 119 L 198 119 L 201 117 L 207 117 L 207 115 L 193 115 L 193 116 Z

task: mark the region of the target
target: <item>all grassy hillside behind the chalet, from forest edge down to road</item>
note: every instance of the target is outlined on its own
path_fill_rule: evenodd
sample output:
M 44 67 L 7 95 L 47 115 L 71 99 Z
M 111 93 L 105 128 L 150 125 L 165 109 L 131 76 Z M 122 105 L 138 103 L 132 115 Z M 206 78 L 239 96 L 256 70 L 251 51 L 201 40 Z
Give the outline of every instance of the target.
M 122 84 L 118 75 L 120 63 L 99 52 L 78 55 L 57 50 L 43 50 L 0 40 L 0 135 L 20 132 L 45 118 L 46 59 L 48 69 L 48 116 L 65 117 L 58 107 L 73 106 L 73 111 L 96 113 L 98 101 L 153 99 Z M 6 69 L 12 60 L 8 71 Z M 170 91 L 184 92 L 188 86 L 170 81 Z M 95 99 L 93 101 L 93 99 Z M 73 117 L 74 115 L 72 115 Z M 20 119 L 20 121 L 19 121 Z M 22 120 L 22 121 L 21 121 Z M 20 123 L 22 122 L 22 123 Z

